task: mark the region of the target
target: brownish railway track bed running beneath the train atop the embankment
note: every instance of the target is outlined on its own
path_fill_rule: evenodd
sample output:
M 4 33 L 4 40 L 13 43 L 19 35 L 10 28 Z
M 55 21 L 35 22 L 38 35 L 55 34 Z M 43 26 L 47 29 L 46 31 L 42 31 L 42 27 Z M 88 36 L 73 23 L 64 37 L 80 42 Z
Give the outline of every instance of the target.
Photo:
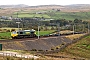
M 75 33 L 77 34 L 77 33 Z M 42 40 L 42 39 L 48 39 L 48 38 L 55 38 L 55 37 L 65 37 L 68 35 L 73 35 L 73 34 L 62 34 L 62 35 L 45 35 L 45 36 L 39 36 L 38 37 L 34 37 L 34 38 L 19 38 L 19 39 L 5 39 L 5 40 L 0 40 L 0 42 L 13 42 L 13 41 L 35 41 L 35 40 Z

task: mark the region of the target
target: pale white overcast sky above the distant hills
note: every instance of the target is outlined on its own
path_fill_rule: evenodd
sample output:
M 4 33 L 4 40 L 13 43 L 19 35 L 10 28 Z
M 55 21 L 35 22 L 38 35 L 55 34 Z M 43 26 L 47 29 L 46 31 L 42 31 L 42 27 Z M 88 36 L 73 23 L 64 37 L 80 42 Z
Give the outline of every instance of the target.
M 36 5 L 71 5 L 71 4 L 90 4 L 89 0 L 0 0 L 0 5 L 26 4 Z

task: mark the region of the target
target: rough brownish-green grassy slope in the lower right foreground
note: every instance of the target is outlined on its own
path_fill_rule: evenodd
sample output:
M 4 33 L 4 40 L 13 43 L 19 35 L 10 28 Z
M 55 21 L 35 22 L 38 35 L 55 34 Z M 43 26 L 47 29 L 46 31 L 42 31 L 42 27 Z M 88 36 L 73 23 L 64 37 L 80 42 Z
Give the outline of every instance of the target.
M 53 56 L 66 56 L 75 60 L 90 60 L 90 35 L 72 44 Z

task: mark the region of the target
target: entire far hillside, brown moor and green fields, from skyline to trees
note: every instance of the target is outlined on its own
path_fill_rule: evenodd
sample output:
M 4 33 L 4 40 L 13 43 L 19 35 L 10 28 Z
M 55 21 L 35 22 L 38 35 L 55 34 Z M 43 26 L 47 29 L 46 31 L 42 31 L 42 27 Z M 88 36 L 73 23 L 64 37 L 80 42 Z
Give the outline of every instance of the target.
M 60 10 L 60 11 L 58 11 Z M 8 13 L 9 12 L 9 13 Z M 90 5 L 89 4 L 76 4 L 76 5 L 1 5 L 0 16 L 13 16 L 16 17 L 44 17 L 44 18 L 60 18 L 66 20 L 74 20 L 76 18 L 89 20 Z M 40 12 L 41 14 L 39 14 Z M 16 14 L 15 14 L 16 13 Z M 24 13 L 24 14 L 23 14 Z M 38 14 L 37 14 L 38 13 Z

